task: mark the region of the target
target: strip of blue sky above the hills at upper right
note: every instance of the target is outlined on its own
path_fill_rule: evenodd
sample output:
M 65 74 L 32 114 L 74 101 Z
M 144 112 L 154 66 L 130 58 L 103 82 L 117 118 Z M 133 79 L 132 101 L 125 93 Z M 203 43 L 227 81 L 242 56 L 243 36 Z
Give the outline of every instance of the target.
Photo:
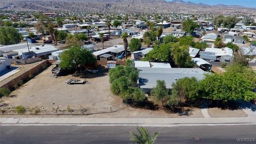
M 172 1 L 172 0 L 167 0 Z M 225 4 L 225 5 L 242 5 L 246 7 L 254 7 L 256 8 L 256 0 L 183 0 L 185 2 L 193 2 L 193 3 L 204 3 L 209 5 L 215 4 Z

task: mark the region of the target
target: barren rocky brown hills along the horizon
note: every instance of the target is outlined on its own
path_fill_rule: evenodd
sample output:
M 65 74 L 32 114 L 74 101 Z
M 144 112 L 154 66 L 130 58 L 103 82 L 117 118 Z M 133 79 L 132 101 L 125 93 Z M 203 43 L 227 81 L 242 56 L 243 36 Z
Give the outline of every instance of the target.
M 195 4 L 174 0 L 8 0 L 0 10 L 44 12 L 145 12 L 145 13 L 256 13 L 243 6 Z

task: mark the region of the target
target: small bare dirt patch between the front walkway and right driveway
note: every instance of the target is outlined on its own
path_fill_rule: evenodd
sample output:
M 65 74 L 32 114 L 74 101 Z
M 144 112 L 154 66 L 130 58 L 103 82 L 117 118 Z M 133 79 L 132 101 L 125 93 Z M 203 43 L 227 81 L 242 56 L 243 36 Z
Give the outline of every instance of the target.
M 209 108 L 208 114 L 211 117 L 247 117 L 247 114 L 241 109 Z

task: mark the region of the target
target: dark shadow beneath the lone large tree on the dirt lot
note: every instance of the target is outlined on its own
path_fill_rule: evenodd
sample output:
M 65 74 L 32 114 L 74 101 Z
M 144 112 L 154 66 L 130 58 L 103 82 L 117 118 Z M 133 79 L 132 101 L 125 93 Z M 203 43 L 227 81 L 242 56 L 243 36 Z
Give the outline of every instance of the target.
M 101 66 L 97 69 L 76 71 L 76 73 L 74 73 L 72 76 L 79 78 L 96 78 L 106 76 L 107 74 L 108 69 Z

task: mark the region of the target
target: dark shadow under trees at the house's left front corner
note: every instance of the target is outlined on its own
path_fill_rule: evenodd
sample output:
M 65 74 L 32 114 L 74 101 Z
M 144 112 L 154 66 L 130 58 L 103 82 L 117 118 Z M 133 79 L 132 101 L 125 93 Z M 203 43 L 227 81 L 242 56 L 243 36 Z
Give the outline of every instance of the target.
M 141 108 L 141 109 L 154 110 L 154 111 L 159 110 L 158 105 L 155 105 L 154 102 L 151 102 L 151 101 L 148 101 L 148 100 L 143 102 L 143 103 L 137 103 L 137 102 L 134 102 L 134 101 L 127 101 L 125 103 L 127 103 L 127 105 L 129 105 L 132 108 Z

